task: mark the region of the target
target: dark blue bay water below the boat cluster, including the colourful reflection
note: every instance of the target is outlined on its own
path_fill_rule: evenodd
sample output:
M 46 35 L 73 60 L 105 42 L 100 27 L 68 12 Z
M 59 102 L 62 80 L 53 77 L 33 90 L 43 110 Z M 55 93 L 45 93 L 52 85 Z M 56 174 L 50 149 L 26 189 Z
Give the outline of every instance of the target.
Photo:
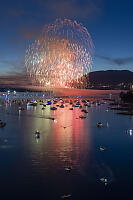
M 60 104 L 60 103 L 59 103 Z M 132 194 L 132 116 L 115 114 L 106 104 L 81 109 L 44 110 L 2 104 L 0 188 L 3 199 L 122 199 Z M 48 119 L 54 117 L 55 120 Z M 103 123 L 102 128 L 97 122 Z M 36 139 L 34 133 L 40 132 Z M 100 151 L 100 147 L 105 151 Z M 105 186 L 100 181 L 107 178 Z

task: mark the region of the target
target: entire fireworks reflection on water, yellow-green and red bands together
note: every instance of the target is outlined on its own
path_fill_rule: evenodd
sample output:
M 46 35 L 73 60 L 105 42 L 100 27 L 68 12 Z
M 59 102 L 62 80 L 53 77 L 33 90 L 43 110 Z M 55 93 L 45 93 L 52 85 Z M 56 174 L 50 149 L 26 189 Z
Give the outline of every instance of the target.
M 88 162 L 91 137 L 90 134 L 86 134 L 86 130 L 89 130 L 90 116 L 86 114 L 86 119 L 80 119 L 80 108 L 69 108 L 69 103 L 66 103 L 64 108 L 53 111 L 47 105 L 42 112 L 41 106 L 38 105 L 30 111 L 34 116 L 40 114 L 54 117 L 55 120 L 39 117 L 25 119 L 29 126 L 29 133 L 25 136 L 25 148 L 28 151 L 28 158 L 31 157 L 32 160 L 33 174 L 44 173 L 50 168 L 54 168 L 55 171 L 81 171 L 86 164 L 82 160 Z M 35 139 L 34 133 L 37 129 L 41 137 Z

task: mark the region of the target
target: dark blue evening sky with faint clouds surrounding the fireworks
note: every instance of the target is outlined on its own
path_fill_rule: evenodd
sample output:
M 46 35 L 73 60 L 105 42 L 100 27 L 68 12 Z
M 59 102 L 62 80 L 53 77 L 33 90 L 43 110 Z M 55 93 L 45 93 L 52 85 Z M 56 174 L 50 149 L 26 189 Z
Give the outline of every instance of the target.
M 130 0 L 5 0 L 0 5 L 0 73 L 21 72 L 25 50 L 57 17 L 81 22 L 95 45 L 92 71 L 133 67 Z

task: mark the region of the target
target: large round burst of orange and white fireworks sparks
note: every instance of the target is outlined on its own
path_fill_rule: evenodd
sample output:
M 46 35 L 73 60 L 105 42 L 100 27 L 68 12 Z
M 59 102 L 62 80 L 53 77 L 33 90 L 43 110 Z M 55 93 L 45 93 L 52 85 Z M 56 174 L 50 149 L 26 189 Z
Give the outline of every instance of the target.
M 91 68 L 93 43 L 76 21 L 57 19 L 45 25 L 25 55 L 28 74 L 45 88 L 70 88 Z

